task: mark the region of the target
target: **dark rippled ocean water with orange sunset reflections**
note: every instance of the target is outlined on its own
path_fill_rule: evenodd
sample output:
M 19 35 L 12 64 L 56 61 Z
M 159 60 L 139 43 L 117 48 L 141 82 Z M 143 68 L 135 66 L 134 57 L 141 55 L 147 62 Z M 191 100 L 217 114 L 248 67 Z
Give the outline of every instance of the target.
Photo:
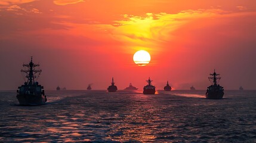
M 46 91 L 20 106 L 0 92 L 0 142 L 256 142 L 256 91 Z

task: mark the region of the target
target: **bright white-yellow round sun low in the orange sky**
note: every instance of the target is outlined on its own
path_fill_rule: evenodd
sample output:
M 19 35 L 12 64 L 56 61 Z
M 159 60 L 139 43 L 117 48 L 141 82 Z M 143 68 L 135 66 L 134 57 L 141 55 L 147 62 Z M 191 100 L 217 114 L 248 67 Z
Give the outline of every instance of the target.
M 146 66 L 150 62 L 150 54 L 144 50 L 137 51 L 133 55 L 133 61 L 138 66 Z

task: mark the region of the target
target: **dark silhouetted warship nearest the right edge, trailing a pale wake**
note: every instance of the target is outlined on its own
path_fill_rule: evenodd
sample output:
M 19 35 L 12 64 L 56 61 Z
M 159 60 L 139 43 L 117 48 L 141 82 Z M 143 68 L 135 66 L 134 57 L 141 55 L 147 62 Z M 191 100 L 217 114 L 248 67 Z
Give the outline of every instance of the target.
M 224 95 L 224 89 L 222 86 L 217 85 L 217 80 L 220 80 L 220 74 L 214 73 L 210 74 L 211 77 L 208 77 L 209 80 L 212 80 L 212 85 L 208 86 L 206 91 L 206 98 L 208 99 L 222 99 Z

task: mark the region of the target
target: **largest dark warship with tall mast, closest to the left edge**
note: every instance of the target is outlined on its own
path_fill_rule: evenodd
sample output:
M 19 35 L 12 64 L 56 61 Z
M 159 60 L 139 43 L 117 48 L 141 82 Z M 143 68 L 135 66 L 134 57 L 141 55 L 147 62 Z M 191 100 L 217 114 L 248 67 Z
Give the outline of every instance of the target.
M 27 82 L 24 85 L 18 86 L 17 99 L 20 105 L 42 105 L 47 102 L 44 93 L 44 86 L 39 85 L 35 80 L 39 77 L 42 70 L 39 69 L 39 64 L 33 63 L 33 57 L 29 64 L 23 64 L 24 70 L 21 72 L 26 74 Z M 38 67 L 38 69 L 36 69 Z

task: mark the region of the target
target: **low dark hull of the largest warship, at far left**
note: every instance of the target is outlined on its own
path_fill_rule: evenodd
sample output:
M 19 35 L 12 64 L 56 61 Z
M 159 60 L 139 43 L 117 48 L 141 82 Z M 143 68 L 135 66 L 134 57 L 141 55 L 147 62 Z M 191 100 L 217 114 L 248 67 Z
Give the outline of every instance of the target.
M 47 101 L 44 95 L 17 95 L 20 105 L 43 105 Z

